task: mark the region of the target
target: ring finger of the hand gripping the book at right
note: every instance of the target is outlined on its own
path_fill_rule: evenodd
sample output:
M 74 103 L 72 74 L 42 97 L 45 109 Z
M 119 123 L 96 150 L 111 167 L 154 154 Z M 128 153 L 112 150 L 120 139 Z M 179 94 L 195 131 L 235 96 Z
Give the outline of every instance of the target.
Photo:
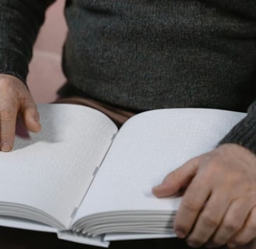
M 221 210 L 222 207 L 219 206 L 219 209 Z M 250 211 L 251 205 L 247 205 L 247 203 L 244 202 L 244 198 L 236 199 L 232 202 L 222 219 L 219 229 L 212 237 L 212 245 L 219 247 L 226 244 L 227 241 L 244 226 Z

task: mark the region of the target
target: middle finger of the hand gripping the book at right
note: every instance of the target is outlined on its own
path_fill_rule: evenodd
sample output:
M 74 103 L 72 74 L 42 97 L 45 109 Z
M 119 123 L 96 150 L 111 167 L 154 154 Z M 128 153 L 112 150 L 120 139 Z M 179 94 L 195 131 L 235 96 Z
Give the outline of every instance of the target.
M 213 193 L 211 195 L 201 210 L 200 215 L 197 217 L 193 231 L 187 238 L 187 243 L 191 247 L 200 247 L 202 244 L 205 244 L 215 231 L 218 230 L 226 210 L 229 208 L 229 202 L 227 200 L 228 198 L 226 196 L 219 195 L 219 193 Z M 219 239 L 219 237 L 216 237 L 216 239 Z M 222 245 L 222 242 L 219 242 L 219 240 L 211 240 L 211 244 L 208 244 L 208 247 L 215 247 L 215 243 L 218 246 Z

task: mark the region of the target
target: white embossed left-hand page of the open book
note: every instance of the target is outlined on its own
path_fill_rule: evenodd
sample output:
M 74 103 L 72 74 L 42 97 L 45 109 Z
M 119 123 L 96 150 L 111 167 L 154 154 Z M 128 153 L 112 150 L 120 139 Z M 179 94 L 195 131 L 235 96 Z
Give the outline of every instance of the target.
M 0 211 L 4 203 L 28 205 L 68 227 L 117 128 L 88 107 L 42 104 L 38 110 L 41 132 L 0 152 Z

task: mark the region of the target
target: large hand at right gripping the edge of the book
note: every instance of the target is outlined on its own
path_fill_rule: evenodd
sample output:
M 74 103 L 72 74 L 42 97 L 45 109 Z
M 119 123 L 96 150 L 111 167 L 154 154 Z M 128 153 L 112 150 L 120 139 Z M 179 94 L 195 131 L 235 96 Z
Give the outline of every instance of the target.
M 256 238 L 254 153 L 224 144 L 183 164 L 152 192 L 160 198 L 183 189 L 174 229 L 191 247 L 233 248 Z

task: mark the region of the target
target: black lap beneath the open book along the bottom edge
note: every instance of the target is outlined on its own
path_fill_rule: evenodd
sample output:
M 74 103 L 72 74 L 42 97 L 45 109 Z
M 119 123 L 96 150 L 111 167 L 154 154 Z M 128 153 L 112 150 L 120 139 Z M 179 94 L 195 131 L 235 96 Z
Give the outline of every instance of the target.
M 30 230 L 18 230 L 12 228 L 0 227 L 0 247 L 5 249 L 98 249 L 85 244 L 77 244 L 66 240 L 59 240 L 55 233 L 42 233 Z M 109 249 L 188 249 L 185 240 L 174 239 L 156 239 L 156 240 L 127 240 L 115 241 L 110 244 Z

